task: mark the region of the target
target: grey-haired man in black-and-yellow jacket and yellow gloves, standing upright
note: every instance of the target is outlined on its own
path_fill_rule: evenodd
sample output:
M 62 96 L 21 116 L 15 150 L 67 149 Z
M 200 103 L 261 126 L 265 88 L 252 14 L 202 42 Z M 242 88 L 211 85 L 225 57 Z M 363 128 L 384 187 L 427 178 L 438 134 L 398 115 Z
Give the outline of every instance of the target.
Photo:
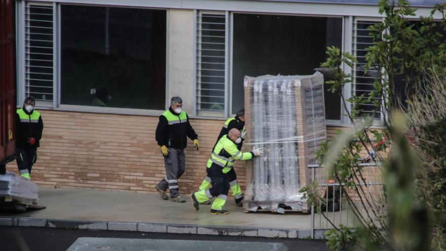
M 166 177 L 155 187 L 161 198 L 167 200 L 166 190 L 169 188 L 170 200 L 185 202 L 178 193 L 178 178 L 184 173 L 184 148 L 187 145 L 187 137 L 194 140 L 198 149 L 200 143 L 198 136 L 189 123 L 186 112 L 181 111 L 182 100 L 180 97 L 172 97 L 169 109 L 160 116 L 156 131 L 156 140 L 161 147 L 166 168 Z

